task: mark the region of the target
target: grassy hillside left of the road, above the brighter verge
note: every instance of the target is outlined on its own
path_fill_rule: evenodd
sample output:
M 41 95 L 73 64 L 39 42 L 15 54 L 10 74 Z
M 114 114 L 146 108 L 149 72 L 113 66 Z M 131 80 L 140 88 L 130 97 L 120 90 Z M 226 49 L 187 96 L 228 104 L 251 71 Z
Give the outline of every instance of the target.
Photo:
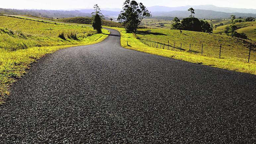
M 0 16 L 0 25 L 0 49 L 10 51 L 34 46 L 82 44 L 90 41 L 90 35 L 96 33 L 90 27 L 50 24 L 7 16 Z M 66 40 L 58 37 L 62 32 Z M 71 33 L 77 38 L 69 38 L 68 35 Z

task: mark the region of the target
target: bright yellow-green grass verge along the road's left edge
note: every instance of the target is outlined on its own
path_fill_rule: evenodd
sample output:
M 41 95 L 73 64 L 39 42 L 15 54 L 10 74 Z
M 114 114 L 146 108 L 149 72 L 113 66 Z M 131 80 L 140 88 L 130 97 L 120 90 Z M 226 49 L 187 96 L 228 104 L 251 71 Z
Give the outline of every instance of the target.
M 10 94 L 9 86 L 26 73 L 31 63 L 40 59 L 45 54 L 53 53 L 59 49 L 90 45 L 103 41 L 109 34 L 107 30 L 104 34 L 94 34 L 84 39 L 80 44 L 46 46 L 46 47 L 30 47 L 19 49 L 16 51 L 8 51 L 0 48 L 0 104 L 4 103 L 6 97 Z

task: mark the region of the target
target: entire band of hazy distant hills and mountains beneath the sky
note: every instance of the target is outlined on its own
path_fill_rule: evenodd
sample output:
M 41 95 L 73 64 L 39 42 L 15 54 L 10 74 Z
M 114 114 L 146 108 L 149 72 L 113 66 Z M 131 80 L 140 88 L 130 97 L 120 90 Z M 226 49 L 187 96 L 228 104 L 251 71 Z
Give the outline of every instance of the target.
M 182 7 L 165 7 L 153 6 L 147 7 L 153 17 L 179 17 L 186 18 L 190 15 L 187 11 L 189 8 L 195 9 L 195 17 L 205 19 L 228 19 L 230 15 L 236 17 L 254 17 L 256 18 L 256 9 L 238 9 L 228 7 L 216 7 L 214 5 L 199 6 L 182 6 Z M 10 15 L 34 15 L 45 18 L 70 18 L 70 17 L 90 17 L 92 9 L 69 9 L 67 10 L 15 10 L 1 9 L 0 13 Z M 101 13 L 106 17 L 118 16 L 122 9 L 119 8 L 102 8 Z

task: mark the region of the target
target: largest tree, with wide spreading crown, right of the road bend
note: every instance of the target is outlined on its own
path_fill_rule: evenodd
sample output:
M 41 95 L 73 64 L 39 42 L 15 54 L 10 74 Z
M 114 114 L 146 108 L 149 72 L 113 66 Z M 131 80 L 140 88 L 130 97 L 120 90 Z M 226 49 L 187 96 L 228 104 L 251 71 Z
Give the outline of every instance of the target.
M 151 14 L 142 3 L 126 0 L 117 20 L 123 23 L 126 32 L 136 34 L 138 25 L 146 17 L 151 17 Z

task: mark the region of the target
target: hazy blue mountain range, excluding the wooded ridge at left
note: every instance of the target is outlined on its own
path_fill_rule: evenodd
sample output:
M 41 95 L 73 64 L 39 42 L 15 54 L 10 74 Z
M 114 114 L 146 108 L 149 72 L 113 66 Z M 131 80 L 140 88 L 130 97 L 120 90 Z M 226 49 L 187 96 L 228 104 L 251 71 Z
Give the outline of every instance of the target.
M 236 17 L 256 17 L 256 9 L 238 9 L 228 7 L 216 7 L 214 5 L 199 5 L 199 6 L 182 6 L 182 7 L 165 7 L 165 6 L 153 6 L 147 7 L 152 16 L 155 17 L 188 17 L 190 12 L 189 8 L 195 9 L 195 17 L 205 19 L 217 19 L 217 18 L 230 18 L 230 15 L 236 15 Z M 82 13 L 91 13 L 92 9 L 80 9 Z M 105 16 L 117 16 L 122 9 L 105 8 L 101 12 Z

